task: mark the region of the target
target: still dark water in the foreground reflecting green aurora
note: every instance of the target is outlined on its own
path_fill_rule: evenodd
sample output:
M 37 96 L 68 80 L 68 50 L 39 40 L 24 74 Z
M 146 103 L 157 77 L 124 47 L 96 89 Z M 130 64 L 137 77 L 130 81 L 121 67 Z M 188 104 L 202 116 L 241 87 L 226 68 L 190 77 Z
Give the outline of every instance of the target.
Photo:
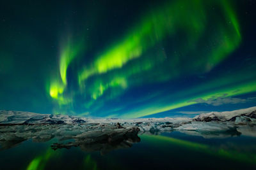
M 24 141 L 0 151 L 0 169 L 256 169 L 256 138 L 205 139 L 181 132 L 141 134 L 131 148 L 109 152 L 72 147 L 52 150 L 45 143 Z

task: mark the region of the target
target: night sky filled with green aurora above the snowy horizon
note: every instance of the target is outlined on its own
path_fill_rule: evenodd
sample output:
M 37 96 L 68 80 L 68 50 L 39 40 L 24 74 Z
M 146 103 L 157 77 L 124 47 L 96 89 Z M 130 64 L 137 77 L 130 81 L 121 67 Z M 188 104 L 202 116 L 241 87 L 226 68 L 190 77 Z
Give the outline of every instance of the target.
M 193 117 L 256 106 L 250 0 L 0 3 L 0 110 Z

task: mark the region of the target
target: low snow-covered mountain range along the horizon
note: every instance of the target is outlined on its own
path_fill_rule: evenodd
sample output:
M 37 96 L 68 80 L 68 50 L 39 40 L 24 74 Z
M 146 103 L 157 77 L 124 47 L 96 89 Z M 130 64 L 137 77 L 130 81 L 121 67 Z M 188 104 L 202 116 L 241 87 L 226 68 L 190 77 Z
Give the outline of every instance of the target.
M 31 113 L 26 111 L 0 111 L 0 124 L 81 124 L 90 123 L 109 123 L 109 122 L 211 122 L 211 121 L 238 121 L 239 118 L 247 118 L 249 121 L 256 118 L 256 106 L 242 110 L 202 113 L 195 118 L 136 118 L 136 119 L 108 119 L 108 118 L 84 118 L 69 115 L 51 115 Z

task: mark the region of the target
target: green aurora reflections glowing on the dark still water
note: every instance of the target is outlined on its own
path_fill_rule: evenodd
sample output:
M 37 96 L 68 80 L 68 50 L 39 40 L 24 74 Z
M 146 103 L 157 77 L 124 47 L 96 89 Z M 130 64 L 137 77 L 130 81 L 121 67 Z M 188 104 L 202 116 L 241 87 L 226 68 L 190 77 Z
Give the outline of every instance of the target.
M 196 143 L 193 141 L 187 141 L 184 139 L 171 138 L 167 136 L 155 136 L 155 135 L 146 135 L 143 134 L 140 138 L 152 145 L 152 147 L 163 146 L 162 148 L 172 147 L 172 146 L 181 146 L 182 148 L 188 148 L 195 152 L 205 153 L 207 155 L 213 155 L 216 157 L 224 157 L 230 160 L 236 160 L 244 163 L 256 164 L 256 155 L 255 153 L 246 153 L 246 152 L 237 152 L 236 150 L 230 150 L 228 148 L 218 148 L 218 146 L 209 146 L 202 143 Z M 41 155 L 35 157 L 31 160 L 27 170 L 32 169 L 45 169 L 45 166 L 49 164 L 49 160 L 59 160 L 63 156 L 65 157 L 65 152 L 63 150 L 52 150 L 49 148 Z M 84 155 L 84 161 L 81 164 L 81 167 L 84 169 L 98 169 L 97 162 L 92 159 L 90 154 Z M 54 161 L 54 162 L 56 162 Z

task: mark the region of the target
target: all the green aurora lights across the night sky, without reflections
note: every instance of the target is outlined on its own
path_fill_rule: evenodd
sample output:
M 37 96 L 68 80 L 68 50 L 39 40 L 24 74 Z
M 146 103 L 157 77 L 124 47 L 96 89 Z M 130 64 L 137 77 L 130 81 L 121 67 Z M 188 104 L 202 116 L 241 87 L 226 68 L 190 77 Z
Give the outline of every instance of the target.
M 216 6 L 214 15 L 209 12 L 212 6 Z M 132 87 L 166 82 L 184 75 L 209 73 L 241 43 L 239 22 L 231 1 L 172 1 L 149 10 L 129 30 L 122 39 L 74 73 L 79 88 L 72 89 L 72 93 L 67 85 L 67 69 L 74 60 L 80 60 L 78 56 L 85 53 L 85 45 L 84 41 L 68 39 L 61 48 L 58 74 L 47 83 L 49 96 L 58 103 L 54 112 L 72 110 L 76 97 L 82 96 L 83 112 L 88 115 Z M 167 39 L 169 43 L 166 46 Z M 167 55 L 164 48 L 159 48 L 163 45 L 172 51 L 171 55 Z M 246 70 L 241 73 L 249 75 Z M 160 97 L 162 99 L 154 104 L 148 102 L 129 111 L 122 111 L 121 107 L 90 116 L 143 117 L 196 104 L 199 98 L 207 100 L 255 92 L 256 82 L 252 81 L 255 75 L 250 74 L 250 79 L 243 75 L 230 77 L 230 74 L 221 74 L 191 89 Z M 157 92 L 153 96 L 159 97 Z M 143 97 L 150 99 L 150 96 Z M 166 102 L 171 98 L 177 100 Z M 140 99 L 136 102 L 140 103 Z

